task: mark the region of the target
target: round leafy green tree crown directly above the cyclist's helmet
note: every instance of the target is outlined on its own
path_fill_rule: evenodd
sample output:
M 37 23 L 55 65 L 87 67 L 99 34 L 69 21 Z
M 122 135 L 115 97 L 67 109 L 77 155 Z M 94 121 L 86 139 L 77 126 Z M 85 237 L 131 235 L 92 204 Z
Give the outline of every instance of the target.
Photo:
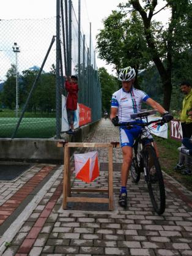
M 126 19 L 125 13 L 113 11 L 103 23 L 104 29 L 97 35 L 99 58 L 113 64 L 117 73 L 126 66 L 135 67 L 136 70 L 146 67 L 149 52 L 139 15 L 132 12 L 130 19 Z

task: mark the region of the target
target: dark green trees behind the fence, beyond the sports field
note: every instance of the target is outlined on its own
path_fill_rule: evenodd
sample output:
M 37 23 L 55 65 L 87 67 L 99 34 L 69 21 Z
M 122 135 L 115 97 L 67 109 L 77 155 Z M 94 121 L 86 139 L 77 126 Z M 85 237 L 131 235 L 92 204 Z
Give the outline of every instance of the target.
M 26 102 L 38 72 L 37 70 L 23 70 L 22 75 L 18 74 L 20 109 Z M 6 77 L 7 80 L 4 83 L 1 93 L 1 101 L 5 107 L 14 109 L 16 105 L 16 68 L 14 65 L 7 71 Z M 50 112 L 55 109 L 55 79 L 54 65 L 52 65 L 49 73 L 42 73 L 40 76 L 32 97 L 29 100 L 28 111 Z

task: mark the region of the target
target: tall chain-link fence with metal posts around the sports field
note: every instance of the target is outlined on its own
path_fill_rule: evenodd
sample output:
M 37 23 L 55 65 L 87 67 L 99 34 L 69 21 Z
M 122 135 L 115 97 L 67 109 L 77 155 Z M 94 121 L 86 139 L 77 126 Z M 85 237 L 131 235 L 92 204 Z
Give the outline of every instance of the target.
M 56 17 L 0 21 L 1 138 L 58 138 L 64 75 L 78 74 L 78 102 L 92 108 L 92 121 L 101 118 L 94 49 L 79 26 L 79 4 L 57 0 Z

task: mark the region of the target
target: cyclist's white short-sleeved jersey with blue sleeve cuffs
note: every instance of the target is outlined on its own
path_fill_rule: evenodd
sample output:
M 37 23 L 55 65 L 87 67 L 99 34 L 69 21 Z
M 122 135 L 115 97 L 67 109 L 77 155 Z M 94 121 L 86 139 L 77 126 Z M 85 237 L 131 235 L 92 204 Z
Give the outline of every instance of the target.
M 126 92 L 123 88 L 114 92 L 111 100 L 111 107 L 118 108 L 119 122 L 135 121 L 130 115 L 141 112 L 142 102 L 146 102 L 149 96 L 146 92 L 131 88 L 130 92 Z

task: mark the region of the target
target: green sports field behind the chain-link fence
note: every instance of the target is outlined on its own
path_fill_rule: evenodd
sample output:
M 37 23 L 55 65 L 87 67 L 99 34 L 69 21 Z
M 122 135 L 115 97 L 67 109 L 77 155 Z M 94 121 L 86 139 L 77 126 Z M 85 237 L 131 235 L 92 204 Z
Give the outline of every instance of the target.
M 0 138 L 10 138 L 19 118 L 0 118 Z M 56 134 L 56 118 L 23 118 L 15 138 L 51 138 Z

